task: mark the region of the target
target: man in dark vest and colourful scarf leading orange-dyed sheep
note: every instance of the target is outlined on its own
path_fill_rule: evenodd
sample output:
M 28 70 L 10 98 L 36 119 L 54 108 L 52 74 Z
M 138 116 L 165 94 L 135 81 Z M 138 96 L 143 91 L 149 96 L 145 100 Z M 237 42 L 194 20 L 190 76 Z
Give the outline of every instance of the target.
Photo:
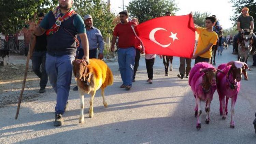
M 64 123 L 62 114 L 66 110 L 72 76 L 72 64 L 77 47 L 77 33 L 84 49 L 83 59 L 89 61 L 88 39 L 84 21 L 72 9 L 73 0 L 59 0 L 59 6 L 49 12 L 34 35 L 42 35 L 46 31 L 47 54 L 46 72 L 49 81 L 57 94 L 54 126 Z

